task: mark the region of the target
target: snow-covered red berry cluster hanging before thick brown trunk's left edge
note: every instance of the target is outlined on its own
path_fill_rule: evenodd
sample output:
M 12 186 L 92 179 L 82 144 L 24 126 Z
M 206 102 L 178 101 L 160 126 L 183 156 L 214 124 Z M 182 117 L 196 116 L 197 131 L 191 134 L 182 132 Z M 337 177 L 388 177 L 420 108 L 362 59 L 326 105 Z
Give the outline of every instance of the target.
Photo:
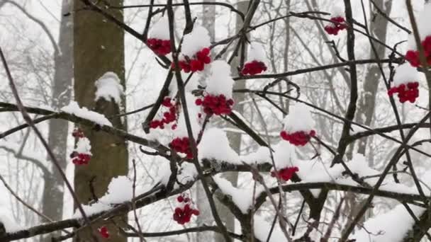
M 91 145 L 89 139 L 84 136 L 81 129 L 74 129 L 72 136 L 77 138 L 77 145 L 70 154 L 72 163 L 75 165 L 86 165 L 91 160 Z

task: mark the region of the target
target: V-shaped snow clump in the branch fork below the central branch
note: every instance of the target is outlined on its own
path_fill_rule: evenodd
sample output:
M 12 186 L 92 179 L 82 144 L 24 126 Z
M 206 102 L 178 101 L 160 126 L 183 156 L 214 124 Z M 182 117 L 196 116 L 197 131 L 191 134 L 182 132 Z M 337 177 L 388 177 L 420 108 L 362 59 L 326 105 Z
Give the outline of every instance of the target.
M 215 175 L 215 183 L 217 183 L 218 188 L 225 194 L 232 197 L 232 201 L 237 205 L 243 214 L 247 214 L 248 210 L 253 205 L 253 187 L 252 188 L 235 188 L 232 183 L 230 183 L 225 178 L 221 178 L 220 175 Z M 264 191 L 262 185 L 257 185 L 254 191 L 254 198 L 259 196 L 261 192 Z

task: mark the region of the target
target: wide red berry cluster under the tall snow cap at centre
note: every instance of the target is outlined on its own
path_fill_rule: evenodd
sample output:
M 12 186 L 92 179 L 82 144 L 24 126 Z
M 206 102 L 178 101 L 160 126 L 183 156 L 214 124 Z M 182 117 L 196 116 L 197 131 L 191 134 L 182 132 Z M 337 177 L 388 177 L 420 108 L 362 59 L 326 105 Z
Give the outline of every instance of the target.
M 230 115 L 232 113 L 233 99 L 226 98 L 223 94 L 218 96 L 207 94 L 203 98 L 195 101 L 196 105 L 203 107 L 203 113 L 206 115 Z

